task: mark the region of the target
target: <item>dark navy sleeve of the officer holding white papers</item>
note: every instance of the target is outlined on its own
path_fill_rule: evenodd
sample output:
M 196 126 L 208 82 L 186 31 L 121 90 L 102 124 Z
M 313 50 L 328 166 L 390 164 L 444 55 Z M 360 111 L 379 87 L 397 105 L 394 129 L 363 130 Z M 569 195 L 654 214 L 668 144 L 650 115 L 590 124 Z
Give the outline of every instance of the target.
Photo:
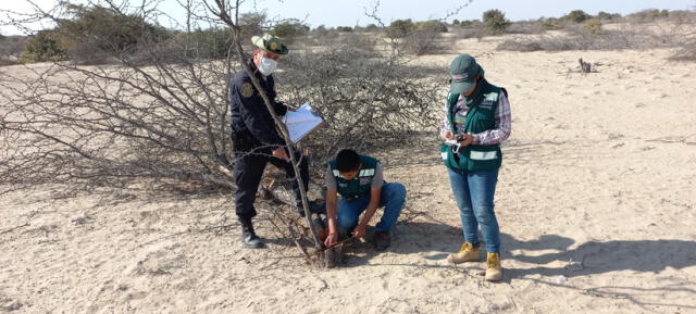
M 273 117 L 269 113 L 269 110 L 265 108 L 265 103 L 263 103 L 263 100 L 254 97 L 253 93 L 249 97 L 244 97 L 244 95 L 239 90 L 239 88 L 245 88 L 241 85 L 250 85 L 251 81 L 241 81 L 241 84 L 235 84 L 235 86 L 233 87 L 232 96 L 234 98 L 234 101 L 237 101 L 237 103 L 240 104 L 239 113 L 241 114 L 241 118 L 244 120 L 244 123 L 251 135 L 253 135 L 254 138 L 265 145 L 285 145 L 285 141 L 283 140 L 283 138 L 281 138 L 281 135 L 278 135 L 278 131 L 275 129 Z

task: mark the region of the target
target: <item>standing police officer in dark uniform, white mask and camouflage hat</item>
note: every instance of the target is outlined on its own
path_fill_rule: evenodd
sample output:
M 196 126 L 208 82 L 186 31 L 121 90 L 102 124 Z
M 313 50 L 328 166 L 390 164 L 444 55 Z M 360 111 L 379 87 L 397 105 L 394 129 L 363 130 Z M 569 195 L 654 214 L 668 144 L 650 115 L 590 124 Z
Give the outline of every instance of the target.
M 257 90 L 246 70 L 237 72 L 229 84 L 229 104 L 232 106 L 232 138 L 235 149 L 234 179 L 237 185 L 235 192 L 236 213 L 241 223 L 241 242 L 248 248 L 262 248 L 263 242 L 256 235 L 251 218 L 257 215 L 253 208 L 256 193 L 268 162 L 285 171 L 295 191 L 297 208 L 300 203 L 299 185 L 295 179 L 295 169 L 288 161 L 285 140 L 279 136 L 271 113 L 269 112 L 261 92 L 271 100 L 277 115 L 284 115 L 287 106 L 275 100 L 273 71 L 276 68 L 281 55 L 287 54 L 287 47 L 279 38 L 269 34 L 262 37 L 253 36 L 251 42 L 254 49 L 249 61 L 249 68 L 261 83 Z M 300 176 L 307 190 L 309 169 L 307 158 L 299 152 Z M 300 210 L 300 215 L 303 212 Z

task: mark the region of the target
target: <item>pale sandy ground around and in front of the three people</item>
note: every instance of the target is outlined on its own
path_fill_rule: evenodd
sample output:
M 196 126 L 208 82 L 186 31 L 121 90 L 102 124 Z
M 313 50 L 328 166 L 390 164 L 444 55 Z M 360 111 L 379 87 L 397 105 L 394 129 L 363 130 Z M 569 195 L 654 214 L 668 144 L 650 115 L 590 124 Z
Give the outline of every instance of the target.
M 502 282 L 445 261 L 461 228 L 431 136 L 372 152 L 408 209 L 387 252 L 353 243 L 333 269 L 307 266 L 268 211 L 269 248 L 244 249 L 229 196 L 4 194 L 0 312 L 696 313 L 696 63 L 666 50 L 487 53 L 497 41 L 457 45 L 512 103 Z M 569 72 L 579 58 L 598 72 Z

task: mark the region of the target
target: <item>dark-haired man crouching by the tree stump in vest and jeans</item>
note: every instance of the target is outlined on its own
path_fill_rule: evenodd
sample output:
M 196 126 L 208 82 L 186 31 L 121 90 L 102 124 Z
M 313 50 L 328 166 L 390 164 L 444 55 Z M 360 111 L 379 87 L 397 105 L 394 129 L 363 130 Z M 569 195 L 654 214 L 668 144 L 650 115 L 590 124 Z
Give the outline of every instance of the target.
M 405 201 L 406 188 L 401 184 L 385 183 L 382 164 L 376 159 L 350 149 L 339 151 L 326 171 L 328 236 L 324 244 L 331 247 L 336 243 L 339 231 L 356 239 L 362 238 L 374 213 L 384 206 L 373 241 L 376 250 L 385 250 L 389 247 L 389 231 Z M 362 212 L 364 215 L 360 218 Z

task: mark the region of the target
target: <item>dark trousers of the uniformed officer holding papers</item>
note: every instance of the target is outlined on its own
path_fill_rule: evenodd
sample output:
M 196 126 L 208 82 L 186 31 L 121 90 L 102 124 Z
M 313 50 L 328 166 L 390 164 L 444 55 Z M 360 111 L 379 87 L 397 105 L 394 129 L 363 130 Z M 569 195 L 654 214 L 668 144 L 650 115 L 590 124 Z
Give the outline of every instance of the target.
M 286 150 L 287 152 L 287 150 Z M 296 160 L 300 160 L 300 176 L 307 191 L 309 185 L 308 158 L 300 152 L 295 152 Z M 301 200 L 299 185 L 295 179 L 295 169 L 289 161 L 273 156 L 270 148 L 259 148 L 250 151 L 239 151 L 235 153 L 234 179 L 237 185 L 235 192 L 235 211 L 239 218 L 251 218 L 257 215 L 253 202 L 257 199 L 257 190 L 263 175 L 266 163 L 271 163 L 277 168 L 285 171 L 287 179 L 290 181 L 295 199 Z

